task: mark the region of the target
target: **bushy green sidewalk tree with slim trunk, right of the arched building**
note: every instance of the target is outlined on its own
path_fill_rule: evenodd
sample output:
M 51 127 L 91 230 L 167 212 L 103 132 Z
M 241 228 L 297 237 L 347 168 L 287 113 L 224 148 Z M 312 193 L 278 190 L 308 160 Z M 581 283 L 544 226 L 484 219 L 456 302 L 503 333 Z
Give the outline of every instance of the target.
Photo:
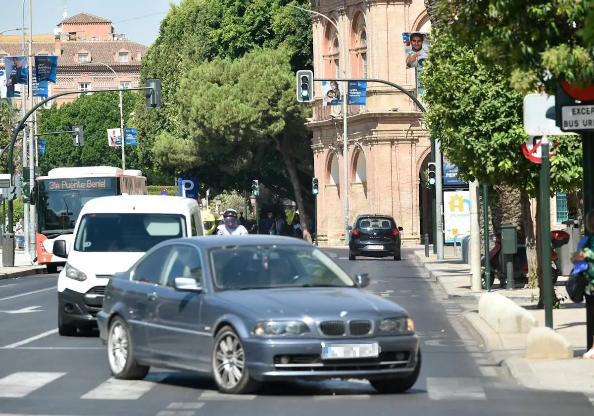
M 434 37 L 423 75 L 432 140 L 441 141 L 444 155 L 460 168 L 460 177 L 522 190 L 523 211 L 529 212 L 529 197 L 538 198 L 539 165 L 529 162 L 520 150 L 528 138 L 522 126 L 523 94 L 511 89 L 502 68 L 488 67 L 476 47 L 459 42 L 453 31 L 436 30 Z M 581 143 L 574 136 L 555 140 L 552 191 L 575 190 L 582 178 Z M 532 253 L 530 269 L 535 272 L 532 218 L 524 217 L 526 245 Z M 539 217 L 537 228 L 538 224 Z M 532 278 L 536 276 L 532 273 Z

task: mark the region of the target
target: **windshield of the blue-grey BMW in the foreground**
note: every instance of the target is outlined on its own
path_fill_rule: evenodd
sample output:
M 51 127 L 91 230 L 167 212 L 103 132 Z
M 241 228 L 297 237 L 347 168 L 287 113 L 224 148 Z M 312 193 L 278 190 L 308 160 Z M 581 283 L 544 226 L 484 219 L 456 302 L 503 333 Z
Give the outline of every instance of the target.
M 209 254 L 217 290 L 356 287 L 345 270 L 315 247 L 236 245 L 212 248 Z

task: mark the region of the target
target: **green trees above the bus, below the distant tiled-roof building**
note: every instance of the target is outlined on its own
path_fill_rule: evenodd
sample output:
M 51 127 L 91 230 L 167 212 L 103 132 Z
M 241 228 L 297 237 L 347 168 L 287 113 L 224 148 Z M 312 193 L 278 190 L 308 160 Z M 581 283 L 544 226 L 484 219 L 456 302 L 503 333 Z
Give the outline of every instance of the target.
M 133 93 L 124 93 L 124 116 L 134 108 Z M 128 120 L 130 117 L 128 116 Z M 38 133 L 70 131 L 82 125 L 84 144 L 72 146 L 71 134 L 46 135 L 45 155 L 39 156 L 40 173 L 61 166 L 122 166 L 121 147 L 109 147 L 108 129 L 119 128 L 119 95 L 116 92 L 83 95 L 59 107 L 44 109 L 39 115 Z M 125 126 L 134 127 L 125 120 Z M 135 146 L 126 146 L 126 168 L 141 169 Z

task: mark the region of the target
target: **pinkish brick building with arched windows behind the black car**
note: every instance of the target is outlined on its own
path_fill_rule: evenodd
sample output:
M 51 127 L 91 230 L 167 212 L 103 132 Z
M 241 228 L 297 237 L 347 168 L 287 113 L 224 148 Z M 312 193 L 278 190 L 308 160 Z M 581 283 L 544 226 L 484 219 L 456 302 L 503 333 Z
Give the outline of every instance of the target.
M 422 0 L 318 0 L 312 1 L 312 10 L 330 17 L 339 28 L 337 33 L 327 20 L 312 15 L 315 77 L 342 78 L 346 59 L 346 77 L 381 78 L 416 94 L 415 71 L 406 70 L 402 33 L 431 30 Z M 347 45 L 340 45 L 341 40 Z M 314 114 L 307 127 L 313 133 L 315 177 L 320 180 L 318 238 L 320 244 L 342 245 L 342 108 L 323 106 L 321 83 L 315 83 L 314 93 Z M 377 83 L 367 84 L 365 106 L 349 106 L 351 225 L 359 214 L 381 213 L 393 215 L 403 226 L 405 242 L 418 243 L 421 234 L 433 234 L 432 200 L 421 183 L 431 144 L 421 115 L 406 94 Z

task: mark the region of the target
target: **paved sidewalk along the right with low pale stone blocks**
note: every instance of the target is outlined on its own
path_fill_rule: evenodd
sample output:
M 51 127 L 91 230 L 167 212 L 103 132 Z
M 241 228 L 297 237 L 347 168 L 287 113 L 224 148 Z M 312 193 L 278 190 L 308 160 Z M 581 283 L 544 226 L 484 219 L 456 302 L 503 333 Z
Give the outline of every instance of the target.
M 451 252 L 453 253 L 453 252 Z M 432 254 L 432 253 L 431 253 Z M 448 254 L 444 260 L 435 256 L 425 257 L 424 251 L 416 251 L 415 257 L 429 271 L 431 280 L 440 285 L 442 291 L 452 300 L 475 300 L 478 302 L 484 291 L 470 291 L 470 267 L 462 263 L 460 257 Z M 566 278 L 560 276 L 557 282 L 557 293 L 566 296 L 564 286 Z M 518 286 L 522 283 L 517 283 Z M 499 287 L 495 281 L 492 292 L 513 300 L 536 319 L 538 327 L 544 327 L 544 310 L 536 309 L 538 289 L 518 288 L 510 291 Z M 512 304 L 513 305 L 513 304 Z M 501 318 L 503 319 L 503 315 Z M 561 307 L 553 311 L 553 326 L 573 346 L 573 359 L 527 359 L 527 333 L 498 332 L 478 314 L 478 310 L 463 314 L 469 324 L 484 340 L 486 349 L 500 362 L 501 366 L 516 379 L 518 383 L 533 389 L 561 390 L 584 393 L 594 396 L 594 360 L 584 360 L 581 355 L 586 350 L 586 311 L 584 304 L 571 301 L 561 302 Z M 514 314 L 509 314 L 513 319 Z M 563 339 L 561 338 L 561 339 Z M 538 348 L 547 349 L 550 338 L 542 339 Z

